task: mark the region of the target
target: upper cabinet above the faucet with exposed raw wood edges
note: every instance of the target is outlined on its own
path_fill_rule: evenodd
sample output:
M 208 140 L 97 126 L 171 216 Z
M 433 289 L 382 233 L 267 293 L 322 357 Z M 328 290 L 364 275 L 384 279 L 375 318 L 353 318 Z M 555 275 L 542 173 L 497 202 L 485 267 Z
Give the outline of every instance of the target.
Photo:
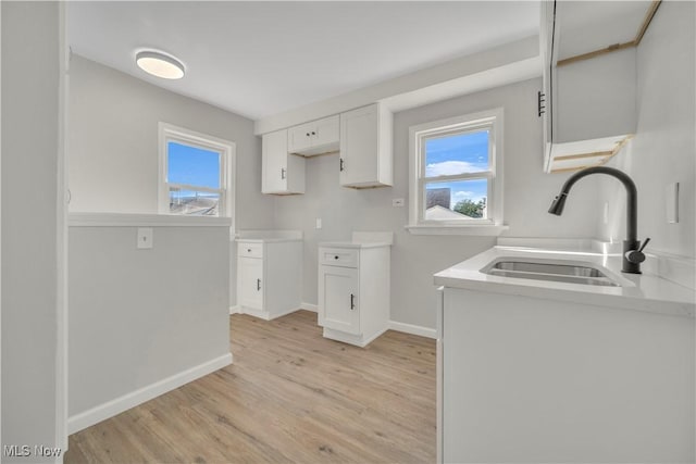
M 650 1 L 542 2 L 544 167 L 605 163 L 636 128 L 636 45 Z

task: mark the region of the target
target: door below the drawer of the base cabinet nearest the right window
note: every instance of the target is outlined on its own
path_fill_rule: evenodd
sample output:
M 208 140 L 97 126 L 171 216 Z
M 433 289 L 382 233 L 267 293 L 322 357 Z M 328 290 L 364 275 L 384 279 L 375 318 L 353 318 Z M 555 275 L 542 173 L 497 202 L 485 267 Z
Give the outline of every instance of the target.
M 320 266 L 319 323 L 347 334 L 360 335 L 358 269 Z

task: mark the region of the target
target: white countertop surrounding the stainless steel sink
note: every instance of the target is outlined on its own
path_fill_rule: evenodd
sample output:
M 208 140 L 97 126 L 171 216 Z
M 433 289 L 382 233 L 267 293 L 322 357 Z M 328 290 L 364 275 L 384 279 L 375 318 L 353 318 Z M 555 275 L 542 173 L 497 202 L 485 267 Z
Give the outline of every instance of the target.
M 601 268 L 621 287 L 502 277 L 481 272 L 500 258 L 564 260 Z M 494 293 L 520 294 L 560 301 L 585 302 L 676 316 L 694 317 L 696 292 L 656 274 L 621 273 L 621 255 L 597 251 L 494 247 L 434 276 L 435 285 Z

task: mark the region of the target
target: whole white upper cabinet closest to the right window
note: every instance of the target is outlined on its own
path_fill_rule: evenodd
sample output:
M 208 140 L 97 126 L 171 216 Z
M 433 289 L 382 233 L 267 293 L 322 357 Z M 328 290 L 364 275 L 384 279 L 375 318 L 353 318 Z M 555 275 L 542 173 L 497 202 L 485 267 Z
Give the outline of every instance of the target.
M 340 114 L 340 185 L 393 184 L 391 113 L 378 103 Z

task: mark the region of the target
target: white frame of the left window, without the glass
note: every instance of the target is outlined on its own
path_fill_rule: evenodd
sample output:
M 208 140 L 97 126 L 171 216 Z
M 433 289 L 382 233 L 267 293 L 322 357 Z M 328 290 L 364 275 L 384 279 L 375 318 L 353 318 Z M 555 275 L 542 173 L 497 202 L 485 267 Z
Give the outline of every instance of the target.
M 217 192 L 220 195 L 220 205 L 217 215 L 211 217 L 229 217 L 233 220 L 235 208 L 235 160 L 236 143 L 207 134 L 197 133 L 173 124 L 160 122 L 158 125 L 159 137 L 159 168 L 158 168 L 158 212 L 172 216 L 186 216 L 186 214 L 174 214 L 170 211 L 170 188 L 172 186 L 197 190 Z M 220 189 L 187 184 L 176 184 L 169 181 L 169 143 L 176 142 L 195 147 L 208 151 L 220 153 Z

